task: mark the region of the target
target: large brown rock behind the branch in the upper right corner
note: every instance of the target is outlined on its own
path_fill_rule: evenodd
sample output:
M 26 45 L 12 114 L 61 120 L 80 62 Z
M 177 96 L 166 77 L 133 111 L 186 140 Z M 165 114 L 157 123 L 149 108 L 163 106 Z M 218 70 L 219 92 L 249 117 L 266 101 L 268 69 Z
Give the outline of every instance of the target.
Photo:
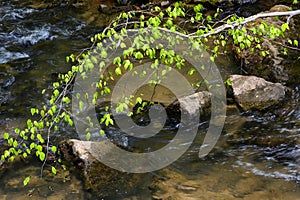
M 269 12 L 283 12 L 288 10 L 289 7 L 287 6 L 276 5 L 272 7 Z M 261 36 L 253 34 L 249 29 L 255 28 L 256 30 L 259 30 L 259 26 L 262 24 L 262 22 L 264 22 L 269 26 L 274 26 L 275 28 L 281 30 L 282 24 L 286 23 L 286 21 L 287 17 L 259 18 L 246 24 L 246 34 L 261 38 Z M 293 19 L 291 19 L 289 25 L 290 30 L 285 32 L 285 38 L 281 36 L 275 39 L 265 37 L 265 40 L 260 44 L 260 49 L 255 47 L 257 44 L 255 42 L 252 42 L 250 48 L 244 48 L 242 50 L 239 49 L 239 44 L 234 47 L 234 52 L 241 63 L 243 73 L 247 75 L 259 76 L 271 82 L 285 83 L 287 81 L 291 81 L 290 76 L 294 75 L 292 75 L 293 73 L 291 69 L 287 68 L 288 60 L 296 60 L 299 52 L 294 53 L 293 50 L 287 49 L 288 55 L 293 57 L 289 59 L 285 59 L 286 56 L 283 52 L 284 46 L 289 46 L 289 39 L 294 40 L 299 38 L 299 31 L 297 31 Z M 251 48 L 254 49 L 253 52 L 251 51 Z M 262 51 L 268 51 L 268 54 L 266 54 L 266 56 L 262 56 Z

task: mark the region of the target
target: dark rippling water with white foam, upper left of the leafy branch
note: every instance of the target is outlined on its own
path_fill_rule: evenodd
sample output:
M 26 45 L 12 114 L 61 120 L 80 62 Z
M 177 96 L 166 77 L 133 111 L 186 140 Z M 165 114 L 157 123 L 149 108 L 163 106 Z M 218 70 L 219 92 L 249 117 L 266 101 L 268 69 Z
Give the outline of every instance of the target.
M 57 73 L 70 68 L 65 57 L 90 45 L 89 38 L 103 24 L 87 24 L 81 10 L 33 9 L 3 1 L 0 4 L 0 126 L 11 131 L 42 107 Z M 12 124 L 12 125 L 10 125 Z

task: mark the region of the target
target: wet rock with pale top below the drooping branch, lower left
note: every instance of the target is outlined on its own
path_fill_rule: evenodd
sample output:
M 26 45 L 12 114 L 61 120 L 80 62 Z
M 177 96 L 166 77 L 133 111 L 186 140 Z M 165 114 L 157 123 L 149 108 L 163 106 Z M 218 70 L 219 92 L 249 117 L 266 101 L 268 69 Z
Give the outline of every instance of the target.
M 97 158 L 110 153 L 109 148 L 100 142 L 80 141 L 71 139 L 59 145 L 64 158 L 82 169 L 84 187 L 99 198 L 120 198 L 144 187 L 147 175 L 129 174 L 112 169 L 102 164 Z M 118 162 L 118 160 L 116 160 Z M 146 188 L 146 187 L 144 187 Z

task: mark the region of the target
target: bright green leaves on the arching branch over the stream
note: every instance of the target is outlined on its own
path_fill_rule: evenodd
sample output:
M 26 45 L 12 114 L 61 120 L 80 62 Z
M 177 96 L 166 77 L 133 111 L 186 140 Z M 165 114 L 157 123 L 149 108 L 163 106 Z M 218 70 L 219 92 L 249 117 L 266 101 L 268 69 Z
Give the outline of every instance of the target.
M 3 152 L 1 160 L 3 162 L 13 161 L 15 156 L 18 155 L 26 158 L 30 154 L 35 154 L 43 162 L 44 167 L 48 154 L 58 153 L 56 146 L 50 146 L 51 134 L 57 133 L 62 126 L 73 126 L 73 116 L 70 112 L 72 84 L 76 76 L 89 78 L 86 71 L 94 69 L 95 65 L 99 65 L 100 68 L 106 65 L 105 62 L 98 63 L 97 58 L 91 56 L 95 48 L 98 49 L 97 52 L 100 54 L 98 56 L 101 58 L 108 56 L 107 52 L 103 50 L 105 41 L 112 39 L 118 41 L 118 43 L 115 42 L 115 45 L 119 45 L 123 49 L 123 55 L 122 57 L 113 58 L 113 64 L 109 68 L 112 70 L 105 72 L 105 76 L 99 77 L 96 84 L 97 90 L 92 95 L 94 105 L 97 105 L 101 96 L 111 93 L 111 83 L 114 79 L 126 72 L 134 72 L 135 66 L 146 60 L 151 60 L 154 68 L 159 64 L 177 70 L 186 67 L 186 61 L 181 56 L 176 55 L 174 51 L 164 48 L 150 48 L 145 45 L 146 40 L 152 40 L 151 38 L 136 38 L 136 41 L 133 42 L 135 46 L 128 47 L 124 42 L 124 38 L 133 29 L 146 30 L 148 27 L 152 27 L 156 31 L 157 38 L 161 37 L 162 31 L 188 38 L 193 44 L 193 48 L 203 48 L 208 51 L 212 61 L 218 55 L 227 53 L 226 49 L 228 49 L 228 44 L 231 41 L 237 46 L 238 51 L 244 49 L 257 51 L 265 38 L 284 37 L 284 32 L 289 29 L 288 23 L 283 24 L 281 28 L 277 28 L 264 21 L 258 29 L 247 27 L 245 18 L 236 15 L 221 18 L 220 13 L 222 12 L 221 9 L 217 9 L 214 14 L 208 15 L 208 13 L 205 13 L 202 4 L 198 4 L 191 9 L 182 2 L 176 2 L 165 9 L 152 7 L 148 10 L 119 14 L 102 33 L 98 33 L 91 38 L 91 48 L 83 51 L 80 55 L 75 56 L 72 54 L 66 57 L 66 61 L 71 63 L 72 67 L 66 74 L 60 74 L 58 76 L 59 81 L 53 83 L 53 91 L 48 104 L 42 108 L 30 109 L 33 119 L 27 120 L 27 126 L 24 129 L 16 128 L 15 134 L 4 134 L 4 139 L 10 148 Z M 289 40 L 289 44 L 298 47 L 297 40 Z M 261 56 L 267 54 L 268 51 L 261 51 Z M 159 78 L 162 78 L 167 71 L 168 68 L 158 78 L 151 80 L 150 83 L 159 84 Z M 194 72 L 195 69 L 191 67 L 188 74 L 193 75 Z M 202 83 L 205 82 L 203 79 L 200 79 L 193 86 L 196 88 L 201 87 Z M 46 92 L 46 90 L 42 91 L 43 94 Z M 78 98 L 81 97 L 78 96 Z M 115 109 L 116 112 L 123 112 L 133 108 L 136 104 L 139 107 L 137 111 L 140 112 L 149 102 L 144 102 L 142 96 L 131 95 L 120 99 Z M 79 101 L 79 110 L 86 109 L 86 106 L 83 100 Z M 100 124 L 103 126 L 114 125 L 111 107 L 106 106 L 105 111 L 105 114 L 99 120 Z M 133 115 L 135 113 L 131 109 L 127 114 Z M 86 118 L 86 123 L 90 124 L 91 128 L 94 126 L 89 117 Z M 101 130 L 100 134 L 105 133 Z M 91 135 L 90 130 L 86 130 L 87 140 L 91 139 Z M 54 166 L 51 166 L 51 171 L 53 174 L 58 173 Z M 24 180 L 24 185 L 27 185 L 29 179 L 27 177 Z

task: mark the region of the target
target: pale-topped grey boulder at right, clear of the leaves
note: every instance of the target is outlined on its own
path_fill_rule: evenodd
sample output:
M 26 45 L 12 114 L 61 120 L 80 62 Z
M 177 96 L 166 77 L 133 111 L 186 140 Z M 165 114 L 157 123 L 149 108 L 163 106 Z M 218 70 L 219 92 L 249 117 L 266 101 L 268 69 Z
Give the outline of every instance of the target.
M 231 75 L 233 95 L 244 110 L 264 110 L 278 105 L 286 97 L 287 88 L 255 76 Z

